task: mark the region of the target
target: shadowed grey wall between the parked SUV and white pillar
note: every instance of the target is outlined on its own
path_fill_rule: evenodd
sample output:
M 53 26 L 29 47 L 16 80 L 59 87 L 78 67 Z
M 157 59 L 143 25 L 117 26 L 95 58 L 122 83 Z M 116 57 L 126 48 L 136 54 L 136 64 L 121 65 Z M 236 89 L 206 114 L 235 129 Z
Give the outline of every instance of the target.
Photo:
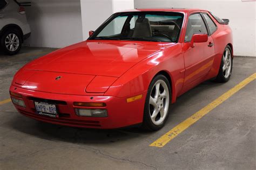
M 32 0 L 26 15 L 31 37 L 25 45 L 59 48 L 83 40 L 80 0 Z

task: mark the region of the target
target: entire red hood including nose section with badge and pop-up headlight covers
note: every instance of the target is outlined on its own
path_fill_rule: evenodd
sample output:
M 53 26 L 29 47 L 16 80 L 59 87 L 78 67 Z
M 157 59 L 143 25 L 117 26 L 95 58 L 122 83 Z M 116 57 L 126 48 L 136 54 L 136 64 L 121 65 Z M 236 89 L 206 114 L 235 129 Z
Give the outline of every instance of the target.
M 119 76 L 166 45 L 170 44 L 80 42 L 28 63 L 12 83 L 48 93 L 104 94 Z

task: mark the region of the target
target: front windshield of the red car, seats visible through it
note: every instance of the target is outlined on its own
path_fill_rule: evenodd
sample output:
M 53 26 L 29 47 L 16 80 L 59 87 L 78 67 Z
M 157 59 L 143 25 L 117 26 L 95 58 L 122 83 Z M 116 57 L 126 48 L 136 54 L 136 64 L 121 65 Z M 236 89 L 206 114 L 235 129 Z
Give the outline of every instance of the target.
M 116 13 L 89 39 L 177 42 L 183 18 L 178 12 Z

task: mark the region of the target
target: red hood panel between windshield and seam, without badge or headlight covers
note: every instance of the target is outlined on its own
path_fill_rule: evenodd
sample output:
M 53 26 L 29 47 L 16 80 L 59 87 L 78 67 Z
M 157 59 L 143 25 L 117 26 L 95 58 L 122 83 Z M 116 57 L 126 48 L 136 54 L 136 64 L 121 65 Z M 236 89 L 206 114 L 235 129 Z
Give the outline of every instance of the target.
M 136 63 L 160 51 L 166 45 L 170 44 L 84 41 L 34 60 L 24 69 L 120 77 Z

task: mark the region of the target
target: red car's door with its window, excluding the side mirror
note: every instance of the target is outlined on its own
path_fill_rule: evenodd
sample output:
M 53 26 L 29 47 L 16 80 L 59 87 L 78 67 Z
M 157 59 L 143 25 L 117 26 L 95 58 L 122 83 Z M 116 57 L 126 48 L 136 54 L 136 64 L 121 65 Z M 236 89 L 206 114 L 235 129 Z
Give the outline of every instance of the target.
M 207 42 L 194 43 L 194 47 L 191 47 L 192 36 L 197 33 L 208 34 L 201 13 L 194 13 L 188 18 L 185 41 L 183 42 L 185 64 L 184 86 L 188 86 L 195 81 L 195 84 L 197 84 L 197 80 L 200 82 L 200 78 L 210 71 L 213 63 L 214 47 L 211 36 L 208 37 Z

